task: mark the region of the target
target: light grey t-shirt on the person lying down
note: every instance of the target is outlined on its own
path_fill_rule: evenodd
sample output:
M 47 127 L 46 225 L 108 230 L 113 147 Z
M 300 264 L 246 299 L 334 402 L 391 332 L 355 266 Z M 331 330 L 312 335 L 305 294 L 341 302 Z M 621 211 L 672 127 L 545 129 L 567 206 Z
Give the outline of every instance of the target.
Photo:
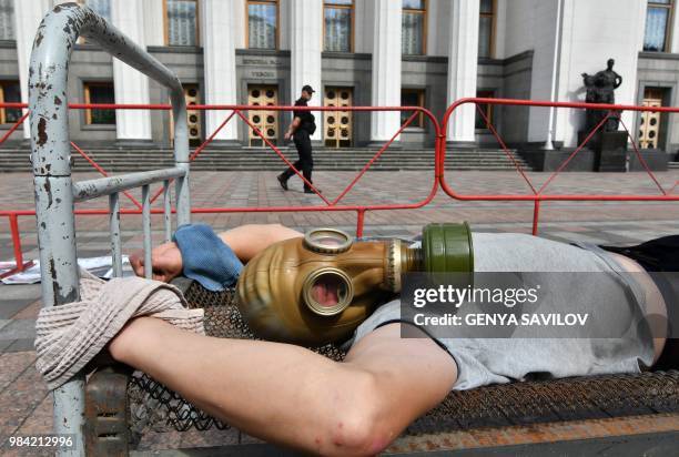
M 635 311 L 645 311 L 643 291 L 605 251 L 595 245 L 574 246 L 516 233 L 473 233 L 475 272 L 591 272 L 582 275 L 577 293 L 551 284 L 546 306 L 577 306 L 578 296 L 597 303 L 592 312 L 620 323 L 619 338 L 437 338 L 457 363 L 454 389 L 523 380 L 611 373 L 638 373 L 653 360 L 652 337 L 643 326 L 629 326 Z M 555 281 L 545 273 L 544 282 Z M 559 288 L 561 287 L 561 288 Z M 590 305 L 588 305 L 590 306 Z M 640 308 L 640 309 L 639 309 Z M 545 311 L 545 309 L 543 309 Z M 354 335 L 353 343 L 388 321 L 401 318 L 401 302 L 381 306 Z

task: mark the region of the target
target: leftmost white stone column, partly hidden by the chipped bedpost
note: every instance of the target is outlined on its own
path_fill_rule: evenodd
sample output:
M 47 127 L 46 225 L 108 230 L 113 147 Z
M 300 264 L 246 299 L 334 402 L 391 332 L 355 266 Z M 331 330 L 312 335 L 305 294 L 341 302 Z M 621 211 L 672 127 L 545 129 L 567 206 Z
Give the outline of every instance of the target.
M 49 9 L 49 0 L 14 0 L 14 39 L 17 40 L 19 84 L 21 85 L 21 101 L 23 103 L 28 103 L 28 69 L 31 61 L 33 39 L 40 21 Z M 31 138 L 30 130 L 27 120 L 23 123 L 23 138 L 27 140 Z

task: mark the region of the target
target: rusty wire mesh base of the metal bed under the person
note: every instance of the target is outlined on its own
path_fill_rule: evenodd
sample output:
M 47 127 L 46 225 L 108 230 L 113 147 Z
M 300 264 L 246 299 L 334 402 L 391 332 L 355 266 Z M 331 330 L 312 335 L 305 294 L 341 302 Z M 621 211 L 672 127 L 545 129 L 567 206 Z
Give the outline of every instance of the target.
M 233 290 L 213 293 L 197 283 L 184 288 L 190 306 L 205 309 L 209 335 L 255 337 L 241 318 Z M 336 360 L 344 356 L 333 345 L 314 351 Z M 118 392 L 112 390 L 115 382 L 111 379 L 116 379 Z M 231 428 L 139 372 L 129 377 L 99 373 L 90 379 L 85 395 L 88 414 L 93 414 L 88 417 L 88 424 L 93 426 L 88 430 L 87 441 L 91 446 L 104 446 L 99 449 L 107 453 L 112 451 L 111 446 L 126 445 L 122 443 L 125 439 L 131 439 L 133 448 L 146 433 Z M 113 404 L 118 410 L 109 407 Z M 125 410 L 121 412 L 121 407 Z M 95 417 L 97 414 L 101 417 Z M 107 439 L 98 438 L 102 430 L 111 429 L 115 418 L 125 422 L 120 440 L 111 439 L 111 434 Z M 100 430 L 97 430 L 98 423 L 103 427 Z M 556 433 L 555 427 L 560 431 Z M 592 429 L 607 429 L 604 435 L 608 436 L 616 429 L 625 435 L 643 431 L 643 427 L 650 427 L 651 431 L 679 430 L 679 370 L 524 382 L 452 392 L 440 405 L 414 422 L 392 450 L 432 450 L 445 448 L 446 443 L 453 448 L 478 447 L 484 443 L 494 446 L 541 443 L 577 439 L 578 434 L 591 438 Z M 493 434 L 497 436 L 490 438 Z M 536 434 L 540 437 L 537 441 Z

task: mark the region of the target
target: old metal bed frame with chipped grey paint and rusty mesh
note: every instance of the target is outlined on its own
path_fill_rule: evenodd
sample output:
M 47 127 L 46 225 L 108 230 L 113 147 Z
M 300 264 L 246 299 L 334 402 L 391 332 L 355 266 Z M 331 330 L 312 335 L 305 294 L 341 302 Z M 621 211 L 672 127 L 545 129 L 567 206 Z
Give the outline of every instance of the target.
M 79 35 L 99 43 L 169 89 L 175 123 L 174 167 L 72 182 L 65 88 L 70 53 Z M 30 111 L 43 305 L 79 299 L 74 202 L 109 196 L 113 270 L 119 276 L 122 255 L 118 195 L 141 186 L 145 273 L 150 276 L 149 185 L 164 183 L 165 237 L 171 227 L 170 180 L 176 180 L 176 223 L 190 222 L 186 108 L 179 79 L 87 7 L 62 4 L 38 29 L 31 55 Z M 191 306 L 205 308 L 209 334 L 254 337 L 234 306 L 233 291 L 214 294 L 190 284 L 185 285 L 185 295 Z M 344 356 L 334 346 L 315 351 L 334 359 Z M 585 438 L 609 448 L 631 441 L 645 448 L 648 434 L 655 437 L 656 450 L 672 449 L 679 430 L 678 412 L 677 370 L 489 386 L 450 393 L 442 405 L 412 424 L 389 451 L 497 450 L 499 446 L 556 446 L 555 443 Z M 54 392 L 54 427 L 55 433 L 74 434 L 77 438 L 77 448 L 62 454 L 128 455 L 148 430 L 229 426 L 144 374 L 110 366 L 98 370 L 87 383 L 80 375 Z M 620 440 L 621 436 L 626 438 Z M 662 447 L 666 444 L 669 447 Z M 253 448 L 244 447 L 241 454 L 246 449 Z

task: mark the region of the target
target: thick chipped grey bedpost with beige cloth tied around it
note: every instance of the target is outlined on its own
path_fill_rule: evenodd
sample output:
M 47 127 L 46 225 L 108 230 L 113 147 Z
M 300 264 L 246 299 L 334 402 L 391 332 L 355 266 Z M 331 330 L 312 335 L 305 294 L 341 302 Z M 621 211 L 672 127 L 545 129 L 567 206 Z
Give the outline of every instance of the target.
M 68 18 L 55 13 L 43 19 L 29 71 L 31 162 L 45 307 L 80 299 L 65 99 L 68 60 L 78 33 L 65 34 L 67 22 Z M 58 39 L 47 40 L 48 35 Z M 54 433 L 74 437 L 74 446 L 58 454 L 84 456 L 84 376 L 54 389 L 53 400 Z

